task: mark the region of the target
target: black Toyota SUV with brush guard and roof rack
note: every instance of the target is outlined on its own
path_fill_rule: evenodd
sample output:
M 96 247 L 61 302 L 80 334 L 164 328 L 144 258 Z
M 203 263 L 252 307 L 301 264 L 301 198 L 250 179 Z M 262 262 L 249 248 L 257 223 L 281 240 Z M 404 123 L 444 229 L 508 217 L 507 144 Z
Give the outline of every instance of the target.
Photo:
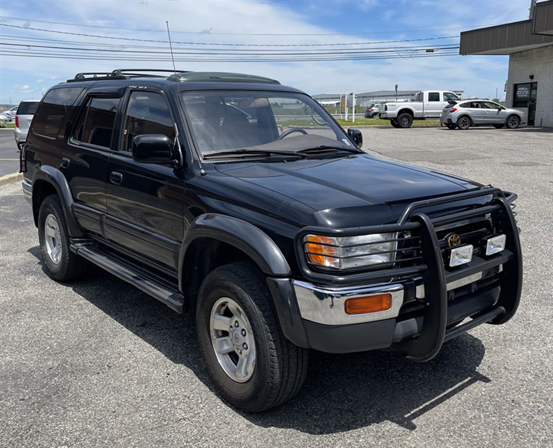
M 80 73 L 21 152 L 50 277 L 92 262 L 177 312 L 225 398 L 290 399 L 308 349 L 415 361 L 521 296 L 515 194 L 380 160 L 309 95 L 236 73 Z

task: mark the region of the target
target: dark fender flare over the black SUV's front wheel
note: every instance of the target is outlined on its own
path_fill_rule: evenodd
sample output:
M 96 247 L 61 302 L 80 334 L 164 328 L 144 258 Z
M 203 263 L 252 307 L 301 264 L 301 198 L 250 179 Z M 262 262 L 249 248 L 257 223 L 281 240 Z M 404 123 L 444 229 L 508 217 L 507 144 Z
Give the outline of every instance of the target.
M 187 250 L 198 238 L 211 238 L 233 245 L 245 252 L 247 256 L 265 272 L 275 277 L 290 275 L 290 265 L 279 247 L 268 234 L 255 225 L 223 214 L 208 213 L 198 216 L 191 223 L 180 246 L 178 261 L 178 283 L 183 287 L 183 272 Z

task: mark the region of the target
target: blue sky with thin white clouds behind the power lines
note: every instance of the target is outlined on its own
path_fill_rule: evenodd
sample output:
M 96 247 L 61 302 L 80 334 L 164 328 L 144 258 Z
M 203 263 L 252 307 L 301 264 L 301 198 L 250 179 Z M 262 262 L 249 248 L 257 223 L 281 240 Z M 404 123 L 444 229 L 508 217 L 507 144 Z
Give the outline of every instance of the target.
M 39 99 L 79 72 L 171 68 L 166 21 L 173 50 L 187 59 L 176 62 L 183 70 L 263 75 L 312 95 L 393 90 L 398 84 L 478 97 L 494 97 L 497 89 L 503 99 L 507 56 L 460 56 L 447 46 L 458 46 L 463 30 L 525 20 L 529 5 L 530 0 L 2 1 L 0 104 Z M 290 60 L 315 58 L 305 56 L 309 53 L 330 60 Z

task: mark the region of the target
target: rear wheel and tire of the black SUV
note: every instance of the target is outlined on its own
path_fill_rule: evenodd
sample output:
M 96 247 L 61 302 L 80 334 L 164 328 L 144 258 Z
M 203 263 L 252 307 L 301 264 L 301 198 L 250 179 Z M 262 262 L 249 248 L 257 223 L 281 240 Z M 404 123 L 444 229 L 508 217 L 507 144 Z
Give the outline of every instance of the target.
M 69 249 L 64 209 L 55 195 L 46 196 L 39 209 L 39 243 L 46 273 L 57 281 L 82 277 L 89 264 Z

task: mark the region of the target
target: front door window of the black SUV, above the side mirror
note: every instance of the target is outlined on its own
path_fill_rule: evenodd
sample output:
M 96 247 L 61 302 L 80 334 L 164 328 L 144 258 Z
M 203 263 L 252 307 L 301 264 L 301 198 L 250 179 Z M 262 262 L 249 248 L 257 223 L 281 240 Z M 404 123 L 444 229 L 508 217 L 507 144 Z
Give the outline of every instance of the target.
M 163 134 L 175 139 L 174 120 L 160 93 L 133 92 L 126 108 L 122 150 L 132 151 L 133 139 L 142 134 Z

